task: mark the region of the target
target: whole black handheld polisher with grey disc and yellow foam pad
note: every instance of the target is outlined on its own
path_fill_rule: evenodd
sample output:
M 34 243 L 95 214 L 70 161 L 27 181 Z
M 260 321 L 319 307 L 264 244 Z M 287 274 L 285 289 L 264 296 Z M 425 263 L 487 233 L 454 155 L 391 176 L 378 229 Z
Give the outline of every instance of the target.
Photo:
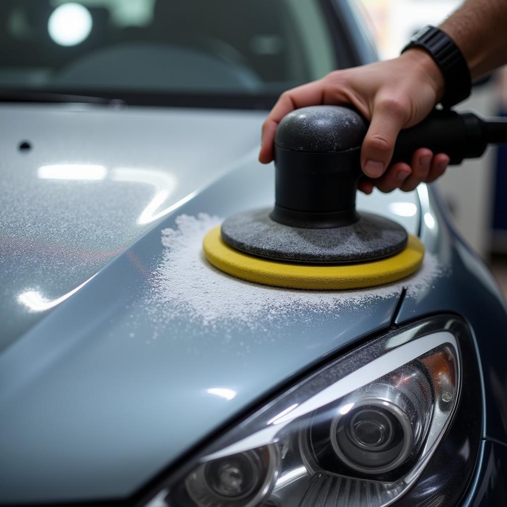
M 424 247 L 396 222 L 358 212 L 359 156 L 368 129 L 348 107 L 303 107 L 286 115 L 275 136 L 275 205 L 227 218 L 204 238 L 216 268 L 267 285 L 300 289 L 364 288 L 402 279 L 422 263 Z M 507 142 L 507 123 L 474 113 L 435 111 L 403 130 L 393 162 L 420 147 L 450 164 Z

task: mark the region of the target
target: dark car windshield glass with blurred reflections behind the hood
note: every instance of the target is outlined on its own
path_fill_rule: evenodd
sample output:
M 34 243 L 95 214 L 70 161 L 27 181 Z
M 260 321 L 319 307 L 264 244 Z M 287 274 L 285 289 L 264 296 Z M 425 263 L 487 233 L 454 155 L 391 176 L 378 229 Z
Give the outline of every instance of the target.
M 0 89 L 278 95 L 340 67 L 318 0 L 2 0 Z

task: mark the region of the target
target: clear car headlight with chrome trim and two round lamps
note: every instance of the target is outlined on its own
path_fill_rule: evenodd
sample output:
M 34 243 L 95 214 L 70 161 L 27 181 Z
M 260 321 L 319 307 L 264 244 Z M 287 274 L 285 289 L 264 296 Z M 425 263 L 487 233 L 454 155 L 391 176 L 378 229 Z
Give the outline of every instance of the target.
M 458 406 L 469 410 L 460 403 L 463 347 L 467 374 L 478 376 L 459 319 L 433 318 L 370 340 L 226 432 L 147 505 L 381 507 L 404 502 L 408 491 L 412 506 L 433 505 L 415 485 L 428 490 L 423 473 L 447 459 L 449 445 L 441 444 Z M 477 389 L 470 393 L 480 399 Z M 461 492 L 473 472 L 480 420 L 466 426 L 471 434 L 460 428 L 454 441 L 447 438 L 451 446 L 466 441 Z

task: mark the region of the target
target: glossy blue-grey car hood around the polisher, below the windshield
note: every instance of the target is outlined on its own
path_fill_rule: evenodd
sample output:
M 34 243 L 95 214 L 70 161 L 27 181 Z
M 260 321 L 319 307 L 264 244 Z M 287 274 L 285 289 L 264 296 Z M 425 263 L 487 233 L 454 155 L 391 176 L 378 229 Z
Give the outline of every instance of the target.
M 389 325 L 399 292 L 255 325 L 207 325 L 170 301 L 155 311 L 161 231 L 177 216 L 272 204 L 273 168 L 256 161 L 264 114 L 1 109 L 0 502 L 128 496 L 281 384 Z M 25 139 L 32 149 L 17 151 Z M 361 195 L 358 207 L 417 233 L 415 193 Z M 217 287 L 209 300 L 219 297 Z

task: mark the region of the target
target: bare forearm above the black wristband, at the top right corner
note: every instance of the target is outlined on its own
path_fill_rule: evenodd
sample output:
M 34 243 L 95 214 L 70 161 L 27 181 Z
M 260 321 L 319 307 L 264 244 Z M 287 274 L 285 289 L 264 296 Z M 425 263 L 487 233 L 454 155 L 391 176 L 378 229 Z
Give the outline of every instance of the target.
M 507 63 L 507 2 L 467 0 L 440 28 L 461 49 L 472 78 Z

